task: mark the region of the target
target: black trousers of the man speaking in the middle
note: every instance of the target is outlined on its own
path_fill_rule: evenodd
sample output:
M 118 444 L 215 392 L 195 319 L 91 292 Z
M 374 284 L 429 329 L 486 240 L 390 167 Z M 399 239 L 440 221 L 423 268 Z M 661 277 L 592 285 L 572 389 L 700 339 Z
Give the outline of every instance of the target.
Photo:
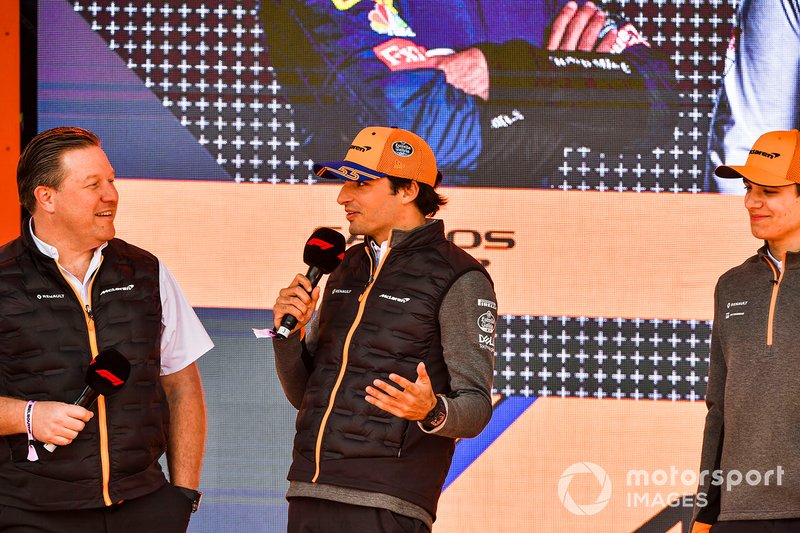
M 420 520 L 386 509 L 290 498 L 287 533 L 429 533 Z

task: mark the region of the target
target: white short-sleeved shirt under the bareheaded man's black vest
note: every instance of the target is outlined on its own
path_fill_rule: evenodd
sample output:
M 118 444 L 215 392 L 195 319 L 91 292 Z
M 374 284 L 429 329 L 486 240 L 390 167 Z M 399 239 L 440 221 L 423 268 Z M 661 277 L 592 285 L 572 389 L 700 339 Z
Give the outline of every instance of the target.
M 39 239 L 33 233 L 32 224 L 30 228 L 33 242 L 39 251 L 58 261 L 58 250 L 55 246 Z M 106 246 L 107 242 L 95 249 L 83 280 L 79 280 L 66 269 L 61 269 L 66 280 L 80 295 L 84 307 L 89 301 L 89 282 L 100 267 L 102 252 Z M 214 347 L 214 343 L 186 300 L 175 277 L 160 260 L 158 267 L 158 292 L 161 295 L 161 375 L 167 376 L 197 361 Z

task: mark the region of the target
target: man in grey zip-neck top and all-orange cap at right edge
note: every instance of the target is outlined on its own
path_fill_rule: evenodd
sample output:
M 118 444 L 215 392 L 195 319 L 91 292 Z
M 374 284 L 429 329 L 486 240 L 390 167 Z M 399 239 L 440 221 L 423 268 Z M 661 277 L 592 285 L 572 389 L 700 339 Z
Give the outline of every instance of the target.
M 693 532 L 800 530 L 800 132 L 762 135 L 742 179 L 758 253 L 717 282 Z

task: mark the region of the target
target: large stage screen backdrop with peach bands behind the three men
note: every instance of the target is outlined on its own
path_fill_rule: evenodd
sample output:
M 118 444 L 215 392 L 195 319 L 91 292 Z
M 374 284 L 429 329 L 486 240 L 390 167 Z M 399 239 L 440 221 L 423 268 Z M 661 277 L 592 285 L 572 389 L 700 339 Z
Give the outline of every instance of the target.
M 630 46 L 550 52 L 564 4 L 40 1 L 39 128 L 101 137 L 118 235 L 216 343 L 192 531 L 285 530 L 295 411 L 252 329 L 311 231 L 346 233 L 310 169 L 370 123 L 434 147 L 448 237 L 499 300 L 494 416 L 458 443 L 434 531 L 686 531 L 714 283 L 758 246 L 705 170 L 735 10 L 608 2 Z M 488 93 L 445 74 L 469 50 Z

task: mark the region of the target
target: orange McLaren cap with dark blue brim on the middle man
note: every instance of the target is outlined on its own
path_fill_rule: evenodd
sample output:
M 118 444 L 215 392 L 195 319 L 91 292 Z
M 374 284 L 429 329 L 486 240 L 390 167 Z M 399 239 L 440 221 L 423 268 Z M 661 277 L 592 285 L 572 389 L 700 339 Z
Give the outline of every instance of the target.
M 370 126 L 356 135 L 344 161 L 319 163 L 320 178 L 365 181 L 394 176 L 436 186 L 436 158 L 428 143 L 400 128 Z

